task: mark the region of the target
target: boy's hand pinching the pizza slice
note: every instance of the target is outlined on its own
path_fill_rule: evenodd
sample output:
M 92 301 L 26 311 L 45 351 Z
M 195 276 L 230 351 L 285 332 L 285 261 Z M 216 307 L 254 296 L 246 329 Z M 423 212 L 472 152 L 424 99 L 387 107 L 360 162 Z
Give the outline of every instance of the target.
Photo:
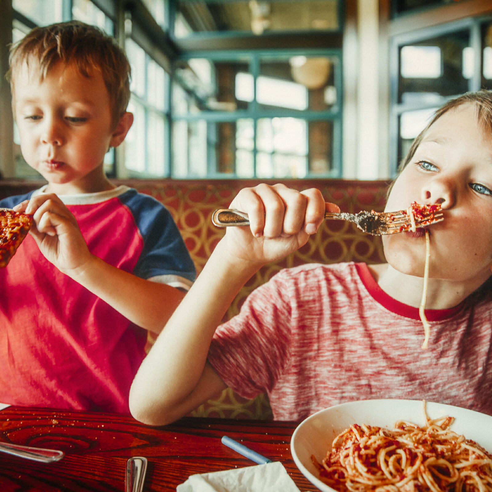
M 82 267 L 91 258 L 77 220 L 55 194 L 38 195 L 16 207 L 33 215 L 30 234 L 40 251 L 63 273 Z

